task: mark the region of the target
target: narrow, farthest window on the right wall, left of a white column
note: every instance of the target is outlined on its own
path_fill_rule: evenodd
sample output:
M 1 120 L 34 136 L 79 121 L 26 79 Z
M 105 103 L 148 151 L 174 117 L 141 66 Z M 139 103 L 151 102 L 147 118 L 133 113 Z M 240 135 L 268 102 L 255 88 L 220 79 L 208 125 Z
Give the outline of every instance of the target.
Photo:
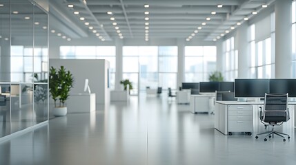
M 223 43 L 225 80 L 233 81 L 238 76 L 238 54 L 235 50 L 235 38 L 231 37 Z

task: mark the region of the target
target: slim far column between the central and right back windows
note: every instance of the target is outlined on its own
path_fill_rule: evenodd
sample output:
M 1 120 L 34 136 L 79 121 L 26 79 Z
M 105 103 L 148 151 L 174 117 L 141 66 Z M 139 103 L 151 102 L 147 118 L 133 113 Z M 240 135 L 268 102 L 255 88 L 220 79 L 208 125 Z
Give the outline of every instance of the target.
M 184 82 L 184 39 L 178 39 L 177 45 L 178 45 L 178 73 L 177 73 L 177 89 L 182 85 L 182 82 Z

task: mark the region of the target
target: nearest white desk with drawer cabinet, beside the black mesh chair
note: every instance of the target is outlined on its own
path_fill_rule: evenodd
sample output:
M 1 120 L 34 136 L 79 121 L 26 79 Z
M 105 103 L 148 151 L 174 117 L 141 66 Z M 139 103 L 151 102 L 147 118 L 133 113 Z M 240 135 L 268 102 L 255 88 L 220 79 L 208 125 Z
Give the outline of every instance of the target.
M 216 101 L 215 129 L 224 135 L 232 135 L 233 132 L 246 132 L 251 135 L 253 132 L 253 105 L 255 104 L 264 104 L 264 102 Z M 295 105 L 296 102 L 288 102 L 288 104 Z

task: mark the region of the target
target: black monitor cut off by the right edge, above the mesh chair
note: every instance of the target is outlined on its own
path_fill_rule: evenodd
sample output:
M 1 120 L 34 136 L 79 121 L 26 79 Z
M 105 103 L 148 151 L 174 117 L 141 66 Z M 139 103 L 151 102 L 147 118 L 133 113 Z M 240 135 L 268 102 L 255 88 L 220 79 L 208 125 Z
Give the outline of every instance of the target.
M 270 79 L 270 94 L 286 94 L 296 98 L 296 79 Z

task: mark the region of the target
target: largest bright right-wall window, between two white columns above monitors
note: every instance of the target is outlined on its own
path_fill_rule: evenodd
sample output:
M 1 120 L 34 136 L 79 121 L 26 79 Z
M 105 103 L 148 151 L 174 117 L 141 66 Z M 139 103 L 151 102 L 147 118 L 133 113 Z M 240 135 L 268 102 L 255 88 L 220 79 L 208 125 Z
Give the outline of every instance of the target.
M 264 19 L 263 23 L 250 25 L 250 74 L 252 78 L 275 77 L 275 13 Z M 266 27 L 267 35 L 262 35 L 262 26 Z M 259 27 L 257 27 L 259 26 Z M 260 28 L 261 27 L 261 28 Z M 265 32 L 266 33 L 266 32 Z

